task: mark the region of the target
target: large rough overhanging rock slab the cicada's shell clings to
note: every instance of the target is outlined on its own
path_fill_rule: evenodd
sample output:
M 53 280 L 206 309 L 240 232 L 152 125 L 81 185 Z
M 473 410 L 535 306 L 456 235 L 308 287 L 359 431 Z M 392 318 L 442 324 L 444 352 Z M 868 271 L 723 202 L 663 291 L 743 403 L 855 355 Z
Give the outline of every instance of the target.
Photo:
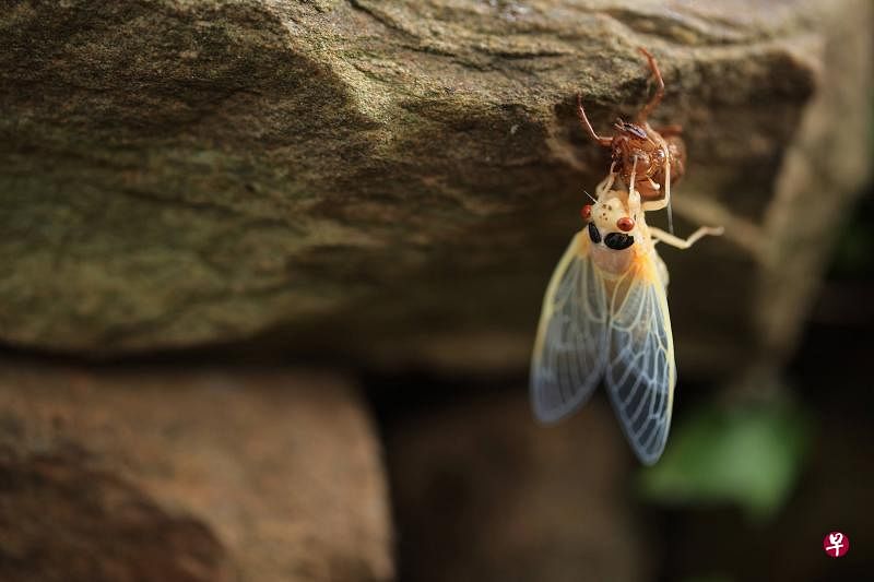
M 866 45 L 870 13 L 862 0 L 16 2 L 0 14 L 0 338 L 118 355 L 259 337 L 521 368 L 581 190 L 606 169 L 575 96 L 603 130 L 635 111 L 643 45 L 669 86 L 658 119 L 686 128 L 678 231 L 729 229 L 664 253 L 678 356 L 687 372 L 733 369 L 758 349 L 739 336 L 765 326 L 790 336 L 769 345 L 791 344 L 795 328 L 770 330 L 803 318 L 864 178 L 867 145 L 846 132 L 867 127 L 867 52 L 834 48 Z M 771 218 L 794 200 L 775 185 L 803 187 L 780 178 L 801 142 L 817 161 L 808 185 L 836 185 L 812 256 L 781 226 L 806 203 Z M 791 271 L 761 257 L 772 230 Z M 757 281 L 792 288 L 800 269 L 801 296 L 769 297 L 784 312 L 759 321 Z

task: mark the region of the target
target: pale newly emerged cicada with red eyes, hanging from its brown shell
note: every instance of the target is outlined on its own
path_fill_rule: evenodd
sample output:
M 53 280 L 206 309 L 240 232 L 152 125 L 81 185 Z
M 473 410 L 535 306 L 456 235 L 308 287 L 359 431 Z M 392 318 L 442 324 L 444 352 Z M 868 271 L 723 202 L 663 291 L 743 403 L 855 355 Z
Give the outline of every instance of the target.
M 645 198 L 638 190 L 638 169 L 646 168 L 634 156 L 627 176 L 624 168 L 614 158 L 594 203 L 582 209 L 586 227 L 570 241 L 546 288 L 531 397 L 538 419 L 553 423 L 582 406 L 603 380 L 635 453 L 651 465 L 668 440 L 676 383 L 668 269 L 656 244 L 686 249 L 722 229 L 701 227 L 681 239 L 648 226 L 645 212 L 670 202 L 671 168 L 662 166 L 661 198 Z M 619 180 L 624 188 L 614 189 Z

